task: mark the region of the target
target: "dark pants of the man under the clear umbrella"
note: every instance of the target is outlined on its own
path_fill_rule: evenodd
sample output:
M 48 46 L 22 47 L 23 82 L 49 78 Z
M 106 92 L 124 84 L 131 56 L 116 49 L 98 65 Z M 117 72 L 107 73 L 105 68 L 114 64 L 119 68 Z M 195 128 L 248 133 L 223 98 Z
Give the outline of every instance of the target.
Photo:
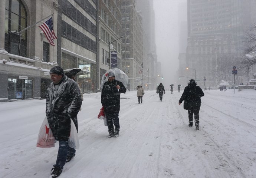
M 119 133 L 120 125 L 119 125 L 119 112 L 105 112 L 106 115 L 106 121 L 108 124 L 108 133 L 110 135 L 114 135 Z M 114 130 L 114 125 L 115 130 Z

